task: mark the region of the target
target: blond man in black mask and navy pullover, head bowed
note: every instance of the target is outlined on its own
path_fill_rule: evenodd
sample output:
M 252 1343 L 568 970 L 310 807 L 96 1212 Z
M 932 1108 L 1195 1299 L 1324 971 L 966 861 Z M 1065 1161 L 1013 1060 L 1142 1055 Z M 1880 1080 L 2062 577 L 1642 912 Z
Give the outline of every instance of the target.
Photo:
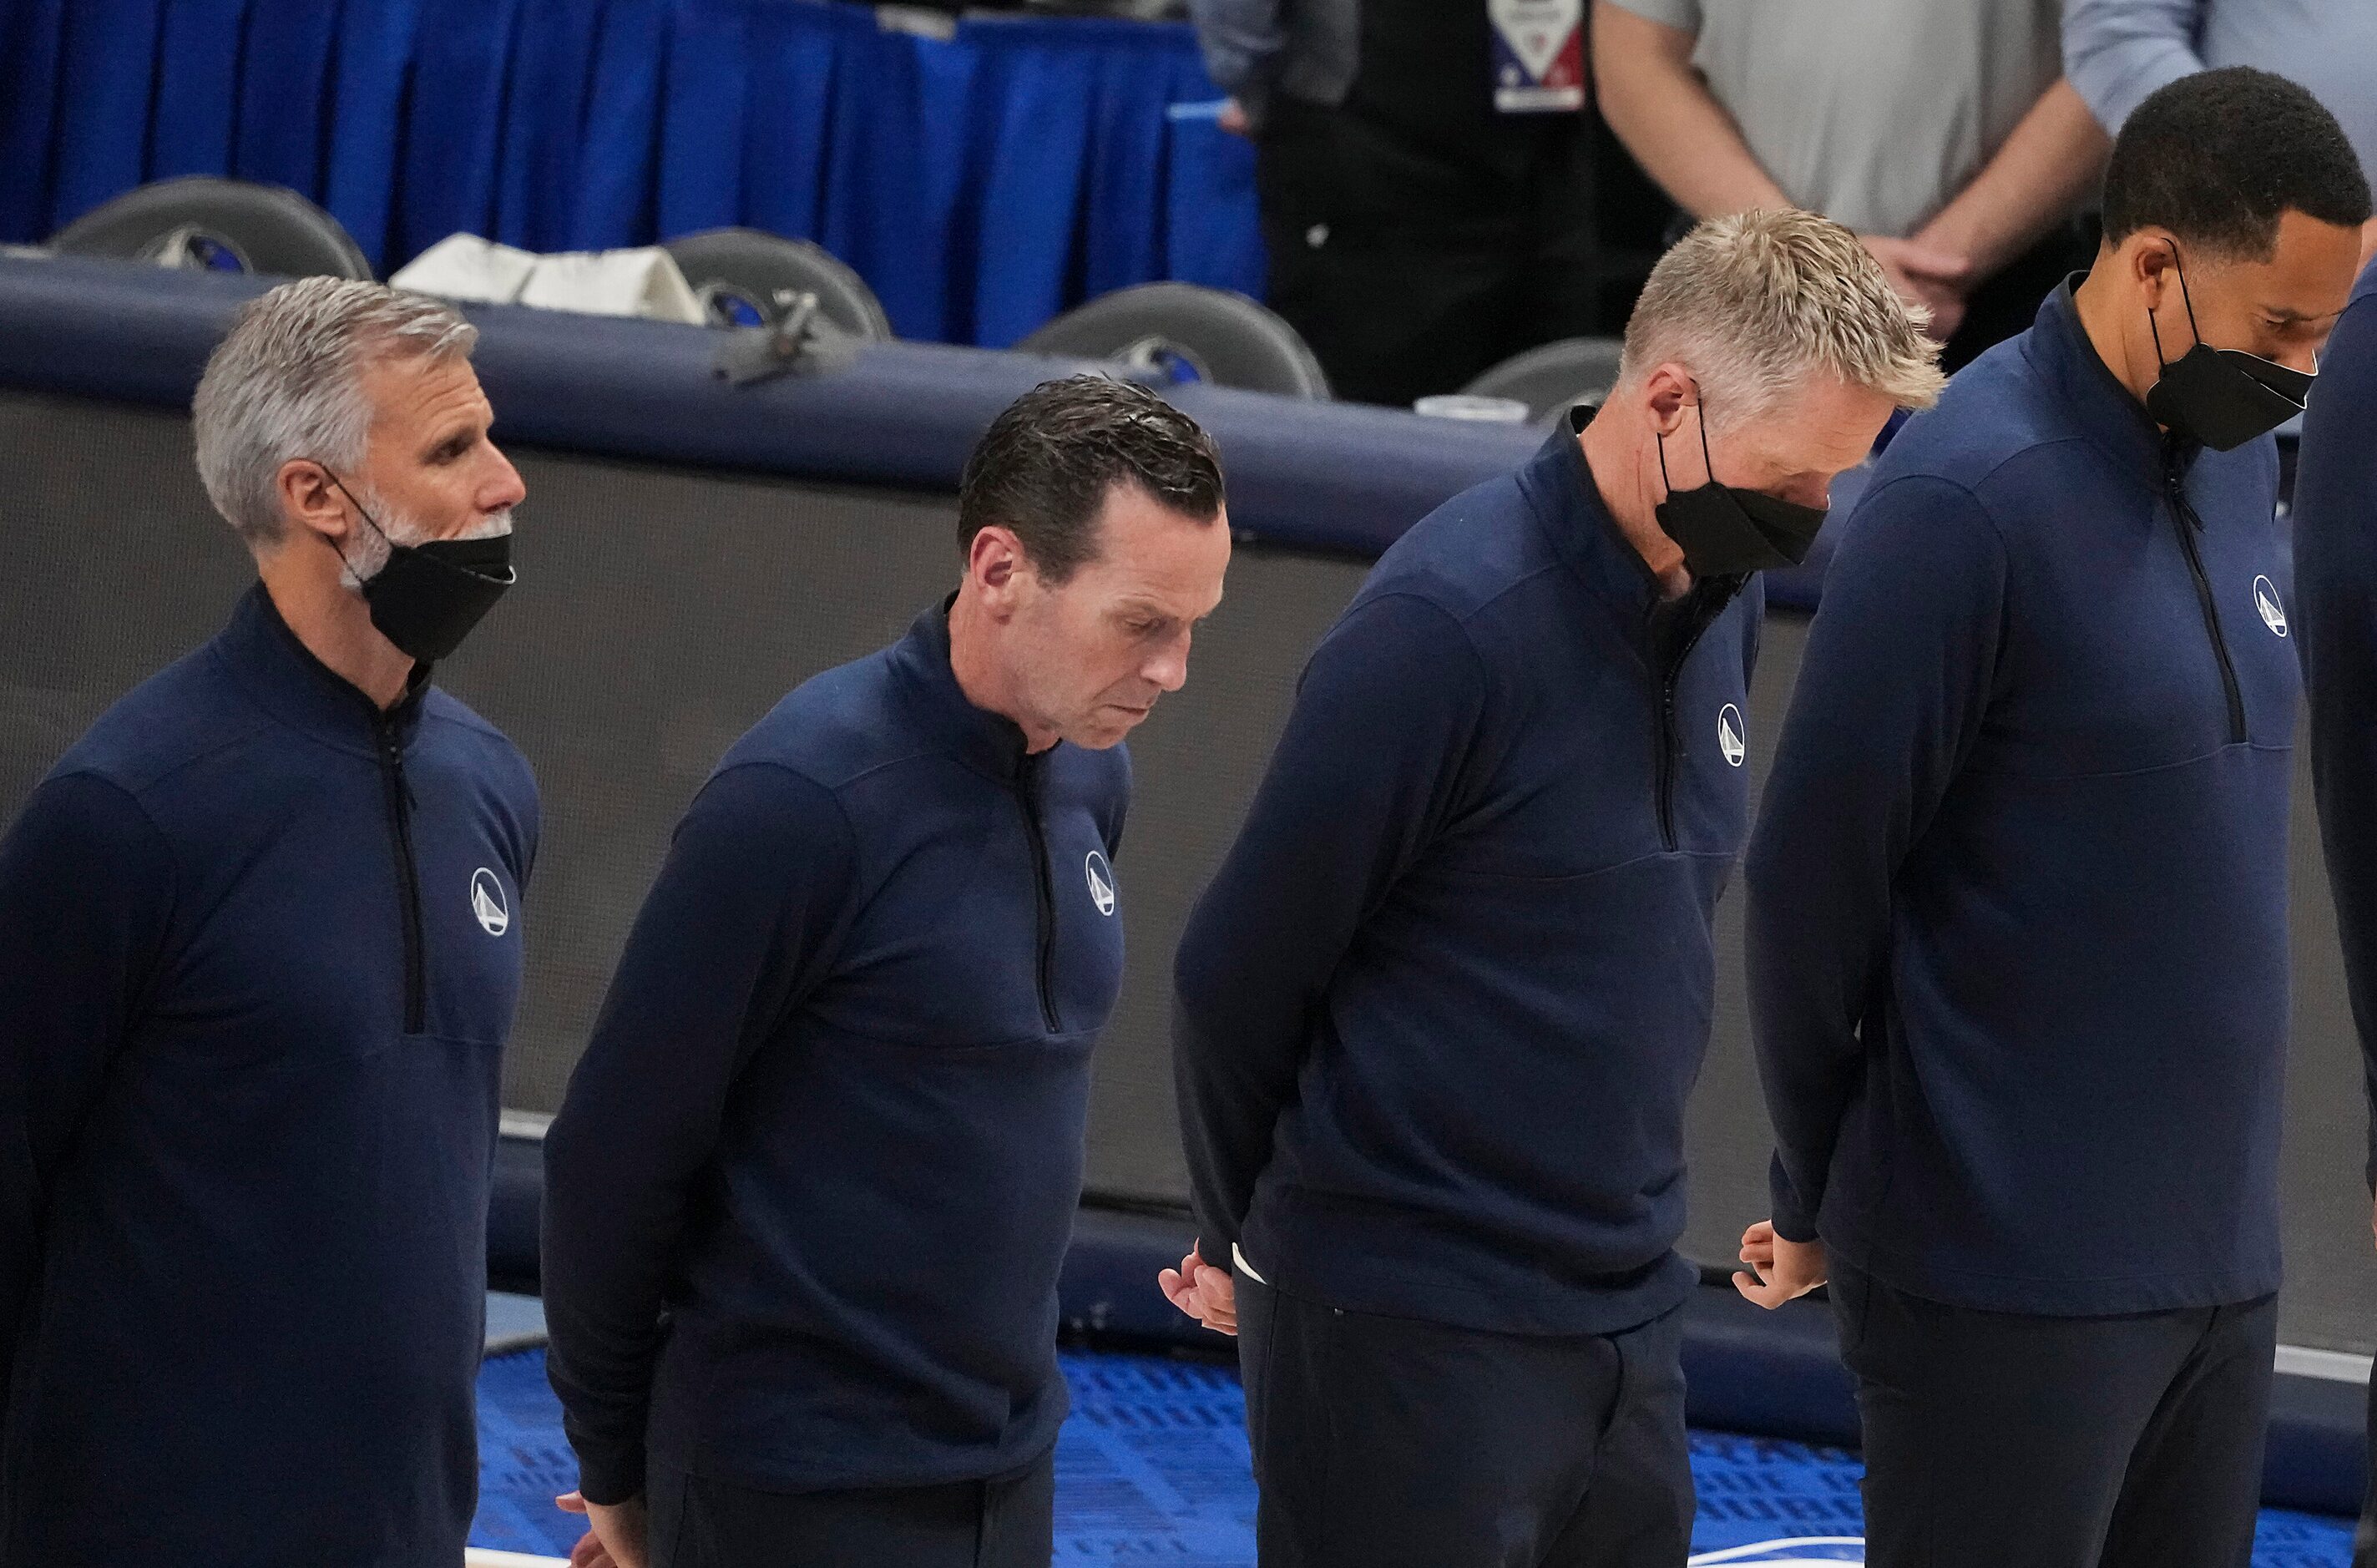
M 1749 822 L 1757 573 L 1937 349 L 1856 235 L 1695 228 L 1616 390 L 1407 532 L 1179 950 L 1265 1568 L 1676 1568 L 1683 1102 Z

